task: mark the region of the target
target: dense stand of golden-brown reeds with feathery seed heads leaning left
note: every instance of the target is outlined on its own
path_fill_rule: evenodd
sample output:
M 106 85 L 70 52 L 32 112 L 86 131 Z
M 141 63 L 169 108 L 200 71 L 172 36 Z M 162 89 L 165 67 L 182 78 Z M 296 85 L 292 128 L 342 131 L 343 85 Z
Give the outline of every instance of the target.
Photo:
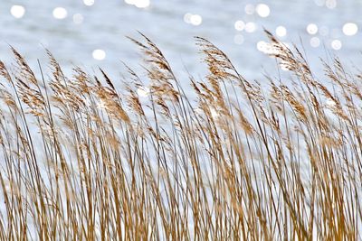
M 177 79 L 141 34 L 130 40 L 147 77 L 126 66 L 123 90 L 103 70 L 64 76 L 50 51 L 36 77 L 12 49 L 15 63 L 0 62 L 0 239 L 360 239 L 362 74 L 336 58 L 321 81 L 266 34 L 291 73 L 265 76 L 268 88 L 199 37 L 205 79 Z

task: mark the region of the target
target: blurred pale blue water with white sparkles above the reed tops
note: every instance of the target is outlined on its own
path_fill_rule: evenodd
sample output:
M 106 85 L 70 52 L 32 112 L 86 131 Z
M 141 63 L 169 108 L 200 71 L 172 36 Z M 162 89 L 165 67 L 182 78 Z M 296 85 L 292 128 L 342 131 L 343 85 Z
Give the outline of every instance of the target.
M 138 48 L 126 38 L 140 39 L 139 31 L 157 43 L 176 73 L 197 77 L 205 73 L 197 35 L 225 51 L 246 78 L 259 79 L 276 70 L 265 54 L 265 28 L 303 47 L 313 69 L 321 67 L 319 57 L 334 54 L 358 67 L 361 13 L 357 0 L 3 0 L 0 59 L 13 60 L 12 45 L 36 69 L 38 59 L 47 65 L 45 47 L 66 71 L 100 66 L 117 77 L 121 60 L 140 68 Z

